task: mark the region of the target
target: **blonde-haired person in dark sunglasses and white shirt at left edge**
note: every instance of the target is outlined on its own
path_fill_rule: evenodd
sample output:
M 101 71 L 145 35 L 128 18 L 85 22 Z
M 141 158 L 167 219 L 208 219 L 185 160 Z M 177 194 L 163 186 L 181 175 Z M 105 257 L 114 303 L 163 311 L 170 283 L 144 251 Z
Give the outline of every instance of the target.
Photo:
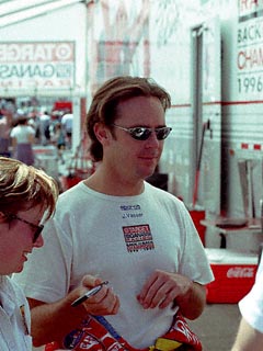
M 9 275 L 43 246 L 43 214 L 55 210 L 55 181 L 41 170 L 0 157 L 0 350 L 32 350 L 27 301 Z

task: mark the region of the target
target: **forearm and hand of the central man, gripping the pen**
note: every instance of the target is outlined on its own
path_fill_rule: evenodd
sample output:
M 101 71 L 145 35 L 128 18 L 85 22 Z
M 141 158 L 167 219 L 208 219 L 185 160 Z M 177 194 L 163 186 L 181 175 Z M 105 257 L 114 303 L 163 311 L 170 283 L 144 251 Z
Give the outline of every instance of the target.
M 88 298 L 77 307 L 71 303 L 82 296 L 90 287 L 102 283 L 98 278 L 87 275 L 82 285 L 65 298 L 46 304 L 33 298 L 27 298 L 31 307 L 33 344 L 35 347 L 57 341 L 61 343 L 65 336 L 78 327 L 87 314 L 114 315 L 119 307 L 118 297 L 111 287 L 103 286 L 99 293 Z M 89 288 L 88 288 L 89 287 Z

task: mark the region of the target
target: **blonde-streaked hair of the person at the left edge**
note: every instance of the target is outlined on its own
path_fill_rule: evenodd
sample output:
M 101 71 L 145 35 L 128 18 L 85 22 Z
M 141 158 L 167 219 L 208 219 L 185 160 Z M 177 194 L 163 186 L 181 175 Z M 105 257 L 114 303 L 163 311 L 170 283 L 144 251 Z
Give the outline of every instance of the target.
M 44 171 L 12 159 L 0 157 L 0 211 L 28 210 L 41 205 L 45 219 L 55 212 L 57 182 Z

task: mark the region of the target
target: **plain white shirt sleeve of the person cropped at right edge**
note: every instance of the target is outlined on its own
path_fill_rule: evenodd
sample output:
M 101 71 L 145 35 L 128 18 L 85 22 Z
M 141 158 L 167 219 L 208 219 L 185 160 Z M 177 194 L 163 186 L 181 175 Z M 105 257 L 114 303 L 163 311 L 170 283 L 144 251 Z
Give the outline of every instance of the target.
M 258 269 L 255 283 L 249 294 L 240 301 L 239 308 L 249 325 L 263 332 L 263 260 Z

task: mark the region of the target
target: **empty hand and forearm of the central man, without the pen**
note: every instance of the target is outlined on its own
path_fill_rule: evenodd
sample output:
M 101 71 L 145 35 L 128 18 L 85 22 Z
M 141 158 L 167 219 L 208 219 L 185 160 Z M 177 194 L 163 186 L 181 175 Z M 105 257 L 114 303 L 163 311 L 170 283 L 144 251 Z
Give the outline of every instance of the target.
M 195 319 L 204 310 L 206 290 L 187 276 L 157 270 L 137 298 L 144 308 L 164 308 L 175 303 L 184 317 Z

